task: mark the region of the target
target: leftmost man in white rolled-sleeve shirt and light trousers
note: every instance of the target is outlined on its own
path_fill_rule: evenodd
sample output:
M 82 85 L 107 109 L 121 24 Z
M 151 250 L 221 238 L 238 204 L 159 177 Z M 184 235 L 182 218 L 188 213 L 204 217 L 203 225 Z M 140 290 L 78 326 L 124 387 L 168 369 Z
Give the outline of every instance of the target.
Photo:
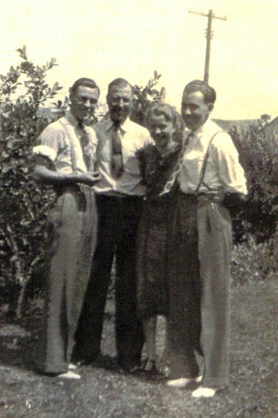
M 84 122 L 95 110 L 99 87 L 81 78 L 70 88 L 70 110 L 48 125 L 34 147 L 34 176 L 54 185 L 55 205 L 48 210 L 45 254 L 44 329 L 38 368 L 61 378 L 79 379 L 71 364 L 78 324 L 96 244 L 97 210 L 92 185 L 97 138 Z

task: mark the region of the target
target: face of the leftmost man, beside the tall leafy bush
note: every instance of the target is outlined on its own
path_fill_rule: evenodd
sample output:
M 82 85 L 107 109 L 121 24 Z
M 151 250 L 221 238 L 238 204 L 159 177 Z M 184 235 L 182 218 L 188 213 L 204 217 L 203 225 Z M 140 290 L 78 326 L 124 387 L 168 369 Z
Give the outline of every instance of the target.
M 97 100 L 99 100 L 97 88 L 79 86 L 75 93 L 70 93 L 72 114 L 79 121 L 83 121 L 95 111 Z

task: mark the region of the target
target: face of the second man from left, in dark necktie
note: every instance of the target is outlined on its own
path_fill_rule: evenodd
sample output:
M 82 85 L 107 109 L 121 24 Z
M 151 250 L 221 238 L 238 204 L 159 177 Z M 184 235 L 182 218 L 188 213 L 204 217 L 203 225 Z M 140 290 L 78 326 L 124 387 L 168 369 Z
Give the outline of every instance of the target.
M 114 86 L 107 95 L 109 114 L 114 122 L 122 123 L 131 113 L 133 95 L 130 86 Z

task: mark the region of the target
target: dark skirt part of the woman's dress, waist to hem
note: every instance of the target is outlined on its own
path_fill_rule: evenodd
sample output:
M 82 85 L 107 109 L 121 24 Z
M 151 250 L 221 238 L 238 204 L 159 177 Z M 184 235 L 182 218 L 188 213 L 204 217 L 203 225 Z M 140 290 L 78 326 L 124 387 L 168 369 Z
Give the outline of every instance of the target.
M 137 312 L 140 318 L 168 315 L 167 276 L 175 197 L 145 201 L 138 229 Z

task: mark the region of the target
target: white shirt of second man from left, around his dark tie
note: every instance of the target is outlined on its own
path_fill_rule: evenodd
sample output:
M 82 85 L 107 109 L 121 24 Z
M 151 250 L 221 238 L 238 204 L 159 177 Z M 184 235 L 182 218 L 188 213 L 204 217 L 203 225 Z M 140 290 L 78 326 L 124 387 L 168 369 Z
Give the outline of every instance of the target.
M 139 155 L 148 144 L 154 144 L 149 132 L 126 118 L 120 125 L 120 137 L 122 141 L 122 157 L 124 173 L 120 178 L 111 175 L 111 141 L 113 121 L 104 118 L 94 126 L 97 134 L 97 164 L 101 180 L 95 185 L 96 193 L 112 196 L 145 194 L 145 185 L 142 185 L 142 173 L 140 170 Z

